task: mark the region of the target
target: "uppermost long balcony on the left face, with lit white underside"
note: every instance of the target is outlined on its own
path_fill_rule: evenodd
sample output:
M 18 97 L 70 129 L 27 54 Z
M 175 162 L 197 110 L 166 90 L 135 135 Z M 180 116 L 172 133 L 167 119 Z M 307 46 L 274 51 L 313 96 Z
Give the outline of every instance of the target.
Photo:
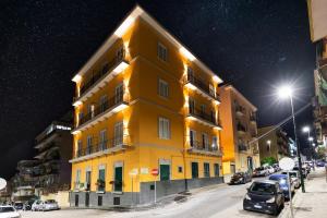
M 73 106 L 77 106 L 83 100 L 89 98 L 94 93 L 104 87 L 116 75 L 123 72 L 129 66 L 125 60 L 125 52 L 122 56 L 117 56 L 107 63 L 100 71 L 93 74 L 92 77 L 84 83 L 80 88 L 80 96 L 73 99 Z M 93 92 L 92 92 L 93 90 Z

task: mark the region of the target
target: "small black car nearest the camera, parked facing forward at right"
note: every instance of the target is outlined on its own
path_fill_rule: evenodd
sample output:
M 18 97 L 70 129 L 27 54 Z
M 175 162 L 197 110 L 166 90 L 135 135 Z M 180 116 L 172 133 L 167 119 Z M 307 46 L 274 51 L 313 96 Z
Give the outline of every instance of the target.
M 284 196 L 277 181 L 255 181 L 247 189 L 243 199 L 244 210 L 278 215 L 283 208 Z

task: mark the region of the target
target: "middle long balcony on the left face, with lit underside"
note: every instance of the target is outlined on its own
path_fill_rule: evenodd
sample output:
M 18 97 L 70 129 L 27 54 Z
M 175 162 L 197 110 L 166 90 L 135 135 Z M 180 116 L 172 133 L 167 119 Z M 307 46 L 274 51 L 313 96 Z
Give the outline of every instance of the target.
M 83 131 L 90 125 L 94 125 L 105 119 L 109 118 L 110 116 L 122 111 L 129 106 L 129 95 L 124 92 L 116 94 L 113 97 L 105 100 L 104 102 L 94 106 L 94 109 L 80 118 L 75 130 L 73 130 L 73 134 L 77 133 L 78 131 Z

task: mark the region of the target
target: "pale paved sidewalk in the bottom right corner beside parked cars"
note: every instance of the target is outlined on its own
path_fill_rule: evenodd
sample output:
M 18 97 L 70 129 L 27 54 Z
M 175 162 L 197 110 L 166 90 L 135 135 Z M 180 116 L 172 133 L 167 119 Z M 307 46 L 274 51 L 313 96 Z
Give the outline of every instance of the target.
M 301 189 L 293 198 L 294 217 L 295 218 L 316 218 L 327 216 L 327 182 L 325 168 L 316 168 L 308 174 L 305 181 L 305 191 Z M 279 218 L 291 217 L 290 208 L 286 206 Z

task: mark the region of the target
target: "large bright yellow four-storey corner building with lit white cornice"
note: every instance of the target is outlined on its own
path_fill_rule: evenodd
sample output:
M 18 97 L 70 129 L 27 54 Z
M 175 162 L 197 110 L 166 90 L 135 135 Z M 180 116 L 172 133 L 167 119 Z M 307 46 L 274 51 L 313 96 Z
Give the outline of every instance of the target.
M 71 206 L 144 204 L 223 182 L 222 81 L 143 9 L 73 81 Z

